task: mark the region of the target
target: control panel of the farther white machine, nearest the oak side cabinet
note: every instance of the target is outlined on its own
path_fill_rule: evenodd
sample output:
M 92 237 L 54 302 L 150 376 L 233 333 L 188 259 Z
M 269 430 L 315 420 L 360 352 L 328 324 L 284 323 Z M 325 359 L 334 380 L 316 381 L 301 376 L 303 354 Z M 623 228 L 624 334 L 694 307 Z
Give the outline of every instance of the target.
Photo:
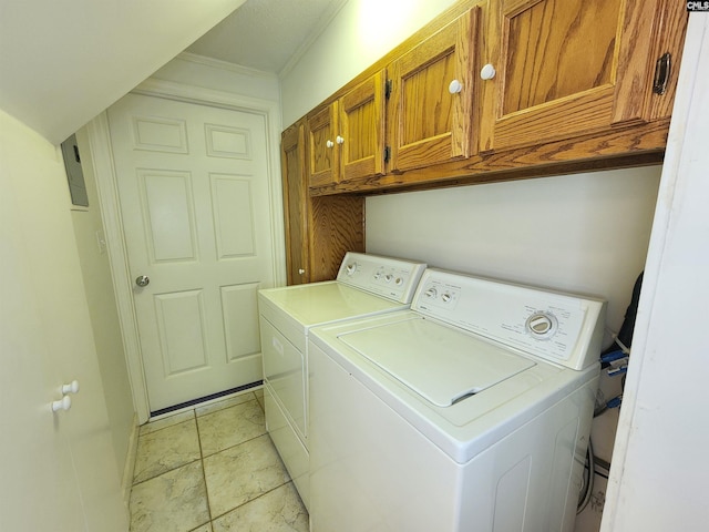
M 349 252 L 337 280 L 399 303 L 409 304 L 425 264 Z

